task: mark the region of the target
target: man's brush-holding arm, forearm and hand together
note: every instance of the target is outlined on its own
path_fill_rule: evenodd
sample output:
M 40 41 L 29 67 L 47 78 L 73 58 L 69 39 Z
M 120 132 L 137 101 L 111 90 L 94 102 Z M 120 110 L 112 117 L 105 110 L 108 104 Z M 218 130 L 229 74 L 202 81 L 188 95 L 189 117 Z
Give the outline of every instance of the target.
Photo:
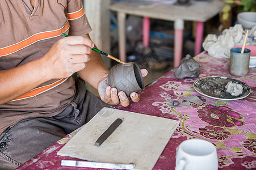
M 41 58 L 0 71 L 0 104 L 19 97 L 51 79 L 61 79 L 85 68 L 94 44 L 82 36 L 64 37 Z

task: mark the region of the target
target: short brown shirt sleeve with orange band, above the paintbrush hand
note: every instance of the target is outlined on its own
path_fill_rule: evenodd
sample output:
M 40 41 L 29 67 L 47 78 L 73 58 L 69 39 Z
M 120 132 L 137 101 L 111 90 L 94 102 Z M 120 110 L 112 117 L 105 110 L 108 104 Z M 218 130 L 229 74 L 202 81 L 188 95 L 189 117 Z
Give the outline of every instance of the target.
M 67 13 L 70 24 L 69 35 L 85 35 L 91 32 L 81 0 L 68 0 Z

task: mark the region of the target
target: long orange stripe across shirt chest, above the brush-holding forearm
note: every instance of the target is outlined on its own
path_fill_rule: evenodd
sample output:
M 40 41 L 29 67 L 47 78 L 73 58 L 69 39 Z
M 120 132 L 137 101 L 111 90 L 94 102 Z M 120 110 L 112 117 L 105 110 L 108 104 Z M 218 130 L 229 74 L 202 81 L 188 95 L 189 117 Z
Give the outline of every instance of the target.
M 18 50 L 23 49 L 26 46 L 31 45 L 37 41 L 59 36 L 61 35 L 61 33 L 66 32 L 68 29 L 69 29 L 69 22 L 66 22 L 66 24 L 60 29 L 57 29 L 54 31 L 48 31 L 48 32 L 40 32 L 35 35 L 32 35 L 31 37 L 28 37 L 28 39 L 26 40 L 20 41 L 10 46 L 6 46 L 4 48 L 0 48 L 0 57 L 15 53 Z

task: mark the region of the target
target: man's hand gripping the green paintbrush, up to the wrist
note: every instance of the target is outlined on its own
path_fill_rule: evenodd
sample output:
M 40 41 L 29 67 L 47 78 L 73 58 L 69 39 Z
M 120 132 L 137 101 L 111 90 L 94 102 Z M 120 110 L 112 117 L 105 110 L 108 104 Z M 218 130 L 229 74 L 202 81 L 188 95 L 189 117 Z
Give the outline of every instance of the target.
M 43 57 L 47 73 L 52 79 L 70 76 L 85 69 L 90 60 L 93 41 L 83 36 L 70 36 L 58 40 Z

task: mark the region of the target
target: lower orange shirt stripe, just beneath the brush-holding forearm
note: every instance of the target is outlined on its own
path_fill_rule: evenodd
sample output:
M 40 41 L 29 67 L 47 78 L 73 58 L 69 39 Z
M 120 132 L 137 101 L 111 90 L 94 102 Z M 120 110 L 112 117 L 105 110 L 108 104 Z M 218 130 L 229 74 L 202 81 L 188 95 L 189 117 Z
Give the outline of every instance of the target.
M 27 98 L 30 98 L 30 97 L 35 97 L 36 95 L 42 94 L 43 92 L 48 91 L 48 90 L 60 85 L 61 83 L 65 82 L 65 80 L 67 80 L 68 78 L 69 77 L 62 78 L 60 80 L 57 80 L 57 82 L 54 82 L 52 84 L 48 84 L 47 86 L 35 88 L 35 89 L 27 92 L 26 94 L 24 94 L 22 96 L 19 96 L 16 99 L 11 100 L 11 101 L 22 100 L 22 99 L 27 99 Z

